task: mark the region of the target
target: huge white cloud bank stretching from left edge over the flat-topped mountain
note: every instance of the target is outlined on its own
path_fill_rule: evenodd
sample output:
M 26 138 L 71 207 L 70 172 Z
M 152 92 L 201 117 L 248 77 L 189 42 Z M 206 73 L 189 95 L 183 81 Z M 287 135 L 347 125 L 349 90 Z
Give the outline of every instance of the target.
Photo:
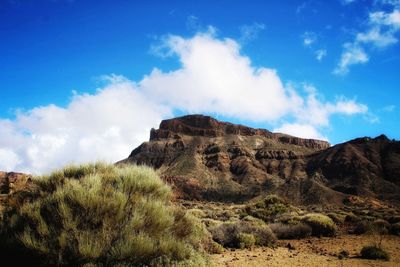
M 276 70 L 252 66 L 238 42 L 214 34 L 211 28 L 192 38 L 165 37 L 158 51 L 177 56 L 177 70 L 155 68 L 137 82 L 108 76 L 106 86 L 75 93 L 66 107 L 42 106 L 0 120 L 0 169 L 42 173 L 71 162 L 120 160 L 174 110 L 274 125 L 293 121 L 277 129 L 317 138 L 325 138 L 319 131 L 330 116 L 366 112 L 354 100 L 324 102 L 309 85 L 305 94 L 284 86 Z

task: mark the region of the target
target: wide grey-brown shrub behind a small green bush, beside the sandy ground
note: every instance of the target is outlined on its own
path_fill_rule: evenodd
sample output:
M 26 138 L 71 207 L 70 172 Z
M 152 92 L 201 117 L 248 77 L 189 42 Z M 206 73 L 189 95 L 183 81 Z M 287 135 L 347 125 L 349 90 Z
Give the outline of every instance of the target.
M 238 221 L 223 223 L 210 228 L 210 233 L 214 241 L 224 247 L 239 248 L 238 235 L 240 233 L 252 234 L 255 238 L 255 245 L 258 246 L 271 246 L 276 241 L 271 229 L 266 224 L 258 222 Z

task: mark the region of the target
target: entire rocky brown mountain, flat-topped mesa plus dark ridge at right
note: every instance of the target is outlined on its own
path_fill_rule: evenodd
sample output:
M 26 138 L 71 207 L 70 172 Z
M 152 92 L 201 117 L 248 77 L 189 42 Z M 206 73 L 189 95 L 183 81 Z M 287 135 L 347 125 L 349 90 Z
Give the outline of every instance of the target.
M 342 205 L 350 195 L 400 203 L 400 142 L 332 146 L 189 115 L 163 120 L 117 164 L 158 169 L 178 198 L 240 202 L 275 193 L 293 204 Z

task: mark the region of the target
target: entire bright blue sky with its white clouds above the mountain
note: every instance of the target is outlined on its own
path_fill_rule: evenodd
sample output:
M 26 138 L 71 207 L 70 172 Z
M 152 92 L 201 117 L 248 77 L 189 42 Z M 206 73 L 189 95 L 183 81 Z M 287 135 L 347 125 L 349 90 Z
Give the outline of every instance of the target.
M 116 161 L 161 119 L 189 113 L 332 144 L 399 139 L 399 10 L 398 0 L 2 0 L 0 169 Z

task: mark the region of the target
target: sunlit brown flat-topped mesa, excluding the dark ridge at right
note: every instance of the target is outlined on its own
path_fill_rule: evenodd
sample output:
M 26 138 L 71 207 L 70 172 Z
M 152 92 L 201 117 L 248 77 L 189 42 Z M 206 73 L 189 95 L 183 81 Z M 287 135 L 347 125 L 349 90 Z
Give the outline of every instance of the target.
M 278 193 L 297 204 L 341 203 L 346 194 L 307 172 L 310 158 L 329 147 L 325 141 L 191 115 L 162 121 L 150 141 L 119 164 L 155 167 L 182 198 L 242 201 Z

